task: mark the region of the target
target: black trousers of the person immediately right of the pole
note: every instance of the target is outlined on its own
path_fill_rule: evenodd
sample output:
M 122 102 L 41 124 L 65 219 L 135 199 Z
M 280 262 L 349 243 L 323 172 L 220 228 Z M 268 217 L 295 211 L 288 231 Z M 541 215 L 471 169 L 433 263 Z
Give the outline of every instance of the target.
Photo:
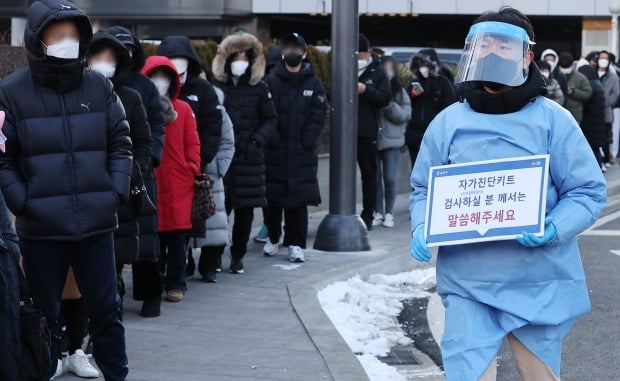
M 372 226 L 372 215 L 377 204 L 377 141 L 357 138 L 357 164 L 362 174 L 362 220 Z

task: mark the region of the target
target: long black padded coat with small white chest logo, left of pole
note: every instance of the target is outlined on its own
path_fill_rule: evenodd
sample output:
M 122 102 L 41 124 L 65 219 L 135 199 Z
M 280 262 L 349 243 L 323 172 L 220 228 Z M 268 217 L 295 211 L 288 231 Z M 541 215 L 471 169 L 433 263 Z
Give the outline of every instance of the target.
M 291 73 L 279 62 L 265 79 L 278 113 L 280 142 L 265 149 L 267 203 L 296 208 L 321 203 L 317 140 L 325 126 L 325 92 L 310 64 Z

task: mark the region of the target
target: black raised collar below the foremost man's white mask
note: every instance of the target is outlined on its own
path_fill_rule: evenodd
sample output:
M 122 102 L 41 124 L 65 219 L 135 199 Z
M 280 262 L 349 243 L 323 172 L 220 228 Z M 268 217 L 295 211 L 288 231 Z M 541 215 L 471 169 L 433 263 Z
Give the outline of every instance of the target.
M 55 57 L 37 58 L 28 55 L 33 78 L 41 86 L 66 93 L 80 87 L 84 62 L 82 59 L 66 60 Z

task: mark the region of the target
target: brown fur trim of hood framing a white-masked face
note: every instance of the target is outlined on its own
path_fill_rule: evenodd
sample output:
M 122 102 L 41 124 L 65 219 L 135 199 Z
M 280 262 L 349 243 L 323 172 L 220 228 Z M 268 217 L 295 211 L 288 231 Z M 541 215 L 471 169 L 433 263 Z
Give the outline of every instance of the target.
M 265 55 L 263 44 L 249 33 L 234 34 L 226 37 L 218 46 L 217 54 L 213 59 L 213 75 L 222 83 L 230 80 L 230 61 L 233 55 L 241 52 L 249 52 L 250 66 L 242 76 L 248 77 L 247 81 L 254 86 L 265 76 Z

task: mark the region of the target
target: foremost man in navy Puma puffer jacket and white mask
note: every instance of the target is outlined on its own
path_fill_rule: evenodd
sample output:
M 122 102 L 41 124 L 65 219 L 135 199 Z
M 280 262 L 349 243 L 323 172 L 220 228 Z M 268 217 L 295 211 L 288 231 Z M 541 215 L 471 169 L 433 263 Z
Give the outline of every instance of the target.
M 88 17 L 72 3 L 29 7 L 29 65 L 0 82 L 7 139 L 0 187 L 17 216 L 30 292 L 52 333 L 51 358 L 59 358 L 61 291 L 72 267 L 97 364 L 106 380 L 125 380 L 113 232 L 116 210 L 129 198 L 131 140 L 111 82 L 84 70 L 91 38 Z

